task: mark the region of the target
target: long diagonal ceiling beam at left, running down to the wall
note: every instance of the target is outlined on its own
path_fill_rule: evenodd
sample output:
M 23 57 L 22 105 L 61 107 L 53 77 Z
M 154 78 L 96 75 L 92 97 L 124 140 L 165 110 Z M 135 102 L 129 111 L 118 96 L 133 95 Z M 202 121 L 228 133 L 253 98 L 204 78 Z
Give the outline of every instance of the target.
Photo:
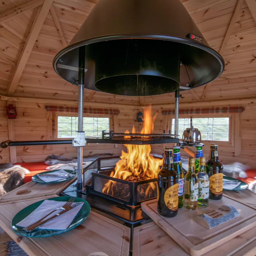
M 34 23 L 32 25 L 31 31 L 30 31 L 28 38 L 24 44 L 23 50 L 20 54 L 20 57 L 17 62 L 17 65 L 15 67 L 15 70 L 13 71 L 13 74 L 9 81 L 9 84 L 7 87 L 7 95 L 8 96 L 13 96 L 13 93 L 16 90 L 16 87 L 19 83 L 21 74 L 23 73 L 23 70 L 28 61 L 29 55 L 33 49 L 33 46 L 36 42 L 36 39 L 37 39 L 38 34 L 42 28 L 42 25 L 44 24 L 45 18 L 50 10 L 52 3 L 53 3 L 53 0 L 45 0 L 42 7 L 37 12 L 37 15 L 36 15 L 36 18 L 34 19 Z

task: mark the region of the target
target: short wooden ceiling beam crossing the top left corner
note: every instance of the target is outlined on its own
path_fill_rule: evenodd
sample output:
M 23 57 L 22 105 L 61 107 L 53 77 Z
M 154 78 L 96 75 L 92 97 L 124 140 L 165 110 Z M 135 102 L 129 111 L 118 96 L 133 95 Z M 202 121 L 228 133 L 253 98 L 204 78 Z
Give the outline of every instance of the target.
M 0 14 L 0 23 L 3 23 L 9 19 L 12 19 L 18 15 L 21 15 L 24 12 L 30 11 L 40 5 L 42 5 L 44 0 L 32 0 L 28 3 L 22 4 L 18 7 L 15 7 L 9 11 Z

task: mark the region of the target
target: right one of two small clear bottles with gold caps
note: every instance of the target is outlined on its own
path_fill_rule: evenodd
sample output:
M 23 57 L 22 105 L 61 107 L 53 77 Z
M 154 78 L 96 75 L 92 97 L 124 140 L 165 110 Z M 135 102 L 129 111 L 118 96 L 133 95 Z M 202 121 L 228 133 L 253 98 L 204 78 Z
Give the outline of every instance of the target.
M 198 207 L 206 208 L 209 204 L 209 176 L 205 171 L 205 157 L 199 157 L 198 178 Z

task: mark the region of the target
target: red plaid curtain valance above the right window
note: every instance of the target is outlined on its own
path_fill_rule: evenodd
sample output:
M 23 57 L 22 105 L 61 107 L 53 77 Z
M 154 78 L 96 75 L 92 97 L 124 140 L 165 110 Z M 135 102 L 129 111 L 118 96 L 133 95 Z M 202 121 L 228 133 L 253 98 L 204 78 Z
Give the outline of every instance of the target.
M 207 108 L 191 108 L 179 109 L 179 115 L 206 115 L 206 114 L 234 114 L 244 111 L 244 107 L 207 107 Z M 163 115 L 174 115 L 174 109 L 166 109 L 162 111 Z

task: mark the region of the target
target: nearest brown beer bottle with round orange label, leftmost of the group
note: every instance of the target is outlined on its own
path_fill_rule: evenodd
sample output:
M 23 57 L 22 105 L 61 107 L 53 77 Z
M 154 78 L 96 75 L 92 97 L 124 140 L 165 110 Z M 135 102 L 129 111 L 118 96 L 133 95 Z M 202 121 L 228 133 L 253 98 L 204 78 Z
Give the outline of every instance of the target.
M 164 217 L 178 214 L 178 173 L 173 168 L 172 149 L 164 149 L 163 167 L 158 173 L 157 210 Z

